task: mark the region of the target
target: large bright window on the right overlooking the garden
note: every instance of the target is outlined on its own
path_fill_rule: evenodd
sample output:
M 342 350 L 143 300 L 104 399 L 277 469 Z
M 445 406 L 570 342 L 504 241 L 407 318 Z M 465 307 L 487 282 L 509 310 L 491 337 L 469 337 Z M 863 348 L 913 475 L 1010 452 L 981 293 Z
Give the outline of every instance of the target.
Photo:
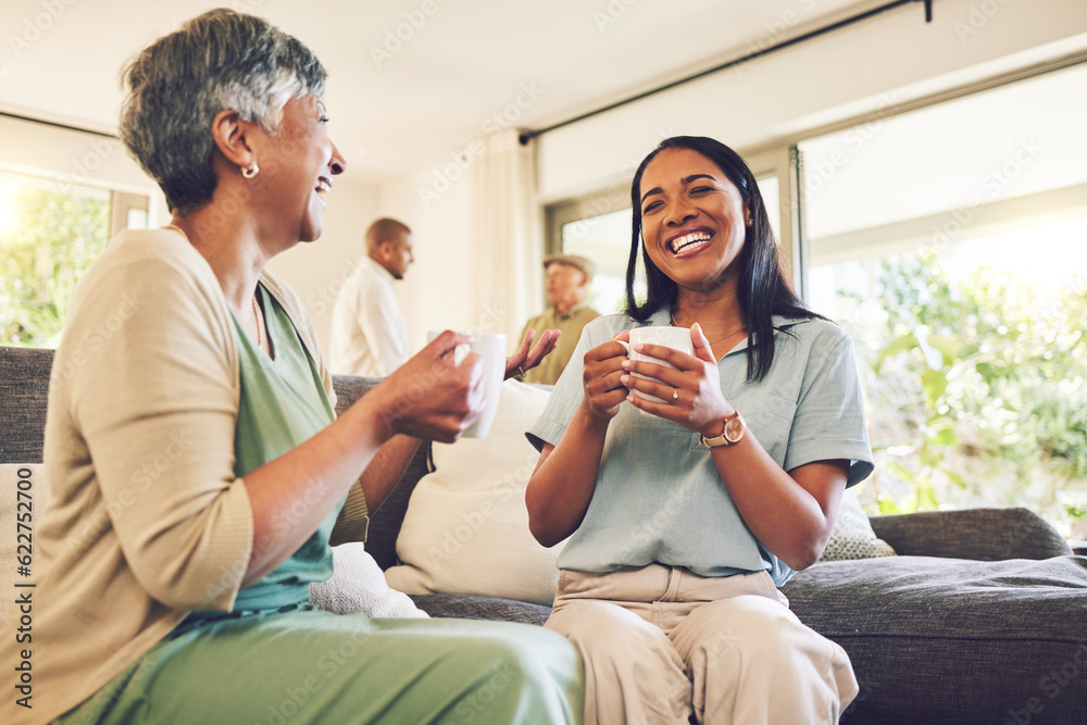
M 851 333 L 884 512 L 1087 503 L 1087 66 L 800 145 L 809 301 Z

